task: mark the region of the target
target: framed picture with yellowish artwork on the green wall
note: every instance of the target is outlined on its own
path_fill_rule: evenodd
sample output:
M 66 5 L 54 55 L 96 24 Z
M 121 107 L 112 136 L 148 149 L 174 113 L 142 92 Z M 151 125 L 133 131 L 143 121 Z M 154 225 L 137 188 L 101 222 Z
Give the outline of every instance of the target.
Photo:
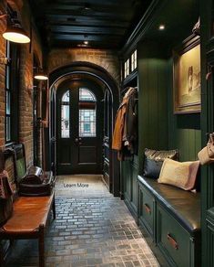
M 190 36 L 174 49 L 174 113 L 200 112 L 200 42 Z

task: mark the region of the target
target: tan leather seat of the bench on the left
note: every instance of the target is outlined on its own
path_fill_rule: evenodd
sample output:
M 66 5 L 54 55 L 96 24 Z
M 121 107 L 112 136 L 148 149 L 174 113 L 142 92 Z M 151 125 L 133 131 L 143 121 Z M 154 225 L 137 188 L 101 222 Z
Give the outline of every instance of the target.
M 48 212 L 51 208 L 54 194 L 47 197 L 25 198 L 15 200 L 11 219 L 0 229 L 6 234 L 27 234 L 37 231 L 40 225 L 46 227 Z

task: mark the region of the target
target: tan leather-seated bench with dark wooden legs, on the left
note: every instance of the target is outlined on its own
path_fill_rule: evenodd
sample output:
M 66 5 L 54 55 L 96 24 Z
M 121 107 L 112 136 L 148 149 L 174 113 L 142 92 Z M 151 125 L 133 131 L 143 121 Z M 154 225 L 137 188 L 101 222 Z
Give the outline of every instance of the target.
M 37 239 L 39 266 L 45 266 L 45 230 L 48 215 L 53 210 L 56 219 L 54 193 L 48 197 L 20 197 L 14 202 L 13 216 L 0 228 L 2 240 Z M 1 253 L 0 266 L 4 266 Z

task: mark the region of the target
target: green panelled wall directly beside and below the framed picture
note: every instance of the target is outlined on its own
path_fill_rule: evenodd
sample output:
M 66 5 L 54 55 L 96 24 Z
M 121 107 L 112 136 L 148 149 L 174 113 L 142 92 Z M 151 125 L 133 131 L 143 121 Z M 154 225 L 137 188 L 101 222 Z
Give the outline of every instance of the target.
M 196 160 L 201 147 L 200 114 L 173 113 L 173 61 L 168 60 L 168 148 L 179 150 L 179 160 Z

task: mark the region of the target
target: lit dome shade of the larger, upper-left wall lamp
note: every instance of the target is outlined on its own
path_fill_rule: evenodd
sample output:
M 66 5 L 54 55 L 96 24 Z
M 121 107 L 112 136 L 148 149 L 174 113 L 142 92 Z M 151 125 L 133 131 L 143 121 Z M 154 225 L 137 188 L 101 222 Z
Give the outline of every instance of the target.
M 8 26 L 3 37 L 14 43 L 26 44 L 30 42 L 30 38 L 27 36 L 25 30 L 18 23 Z

